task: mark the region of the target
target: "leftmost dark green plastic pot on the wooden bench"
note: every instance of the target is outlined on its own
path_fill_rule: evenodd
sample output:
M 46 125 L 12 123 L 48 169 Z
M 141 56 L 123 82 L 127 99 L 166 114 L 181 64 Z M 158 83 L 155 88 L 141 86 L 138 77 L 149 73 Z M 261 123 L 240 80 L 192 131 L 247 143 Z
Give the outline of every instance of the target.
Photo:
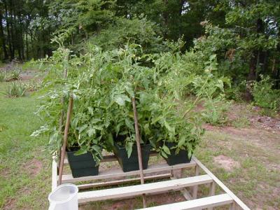
M 96 165 L 92 153 L 74 155 L 75 151 L 67 151 L 68 161 L 74 178 L 80 176 L 95 176 L 99 172 L 99 165 Z

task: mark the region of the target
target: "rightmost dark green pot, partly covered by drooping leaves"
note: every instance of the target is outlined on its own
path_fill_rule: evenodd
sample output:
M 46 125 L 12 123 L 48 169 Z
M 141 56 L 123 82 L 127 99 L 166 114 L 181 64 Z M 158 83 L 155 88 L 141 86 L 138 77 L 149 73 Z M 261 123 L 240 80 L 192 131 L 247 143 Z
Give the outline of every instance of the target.
M 180 163 L 187 163 L 190 162 L 191 158 L 188 158 L 188 151 L 184 151 L 181 150 L 179 151 L 178 154 L 175 154 L 175 149 L 171 149 L 173 146 L 176 146 L 176 144 L 172 143 L 172 142 L 167 142 L 165 144 L 169 150 L 170 150 L 170 155 L 167 155 L 168 158 L 165 158 L 165 160 L 167 161 L 168 165 L 176 165 L 176 164 L 180 164 Z

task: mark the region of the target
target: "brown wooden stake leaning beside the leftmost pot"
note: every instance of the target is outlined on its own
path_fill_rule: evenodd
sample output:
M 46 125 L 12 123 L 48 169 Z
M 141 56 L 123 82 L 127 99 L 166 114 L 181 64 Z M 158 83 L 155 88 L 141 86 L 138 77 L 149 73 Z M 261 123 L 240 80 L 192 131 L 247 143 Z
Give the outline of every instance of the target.
M 65 125 L 65 129 L 64 129 L 62 153 L 61 153 L 60 163 L 59 163 L 58 185 L 60 185 L 62 183 L 62 172 L 63 172 L 63 165 L 64 165 L 63 163 L 64 163 L 66 146 L 67 146 L 67 138 L 68 138 L 68 131 L 69 131 L 72 108 L 73 108 L 73 98 L 70 97 L 68 110 L 67 110 L 67 116 L 66 116 L 66 125 Z

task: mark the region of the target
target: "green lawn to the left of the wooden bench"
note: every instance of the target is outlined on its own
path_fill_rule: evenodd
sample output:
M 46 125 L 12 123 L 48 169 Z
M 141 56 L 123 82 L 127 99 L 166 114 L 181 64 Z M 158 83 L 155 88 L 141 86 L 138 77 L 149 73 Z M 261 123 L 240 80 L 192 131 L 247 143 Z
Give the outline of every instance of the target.
M 0 83 L 0 91 L 6 85 Z M 38 95 L 7 98 L 0 94 L 0 208 L 5 205 L 8 205 L 6 209 L 47 207 L 50 155 L 43 151 L 47 141 L 30 137 L 41 125 L 34 114 L 39 104 L 37 98 Z

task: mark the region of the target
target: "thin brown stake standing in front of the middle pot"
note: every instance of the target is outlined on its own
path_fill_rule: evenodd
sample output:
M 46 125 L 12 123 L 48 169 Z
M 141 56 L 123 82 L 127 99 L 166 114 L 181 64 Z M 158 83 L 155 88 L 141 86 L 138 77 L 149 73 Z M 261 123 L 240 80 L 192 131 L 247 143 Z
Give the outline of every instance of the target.
M 136 109 L 134 97 L 132 97 L 132 106 L 133 106 L 133 112 L 134 112 L 134 127 L 135 127 L 135 134 L 136 134 L 140 180 L 141 180 L 141 185 L 143 185 L 144 184 L 144 173 L 143 173 L 142 153 L 141 153 L 141 146 L 140 146 L 140 134 L 139 134 L 139 127 L 138 127 L 138 119 L 137 119 L 137 109 Z M 143 207 L 146 208 L 146 195 L 143 194 L 142 198 L 143 198 Z

